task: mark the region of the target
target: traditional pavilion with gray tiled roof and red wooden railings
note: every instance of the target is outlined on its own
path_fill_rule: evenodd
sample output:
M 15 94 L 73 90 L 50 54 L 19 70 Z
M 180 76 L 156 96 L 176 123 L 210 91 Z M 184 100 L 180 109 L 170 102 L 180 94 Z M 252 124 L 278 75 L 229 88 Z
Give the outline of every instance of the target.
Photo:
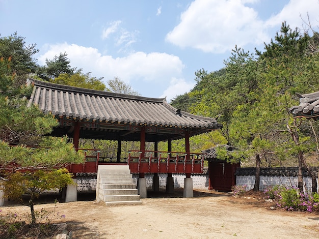
M 157 173 L 168 173 L 167 190 L 174 188 L 172 173 L 185 173 L 191 179 L 192 173 L 203 170 L 203 155 L 190 152 L 190 137 L 222 128 L 215 118 L 183 112 L 165 98 L 96 91 L 35 79 L 28 79 L 28 83 L 33 85 L 29 104 L 38 105 L 44 114 L 52 114 L 59 121 L 51 136 L 67 135 L 73 138 L 75 148 L 80 138 L 117 140 L 116 163 L 123 163 L 122 141 L 139 141 L 139 156 L 132 157 L 132 152 L 128 152 L 125 164 L 129 164 L 131 172 L 139 173 L 139 180 L 145 173 L 154 173 L 155 178 Z M 172 140 L 182 138 L 185 152 L 172 152 Z M 168 152 L 157 151 L 160 141 L 168 142 Z M 154 142 L 154 151 L 146 152 L 145 142 Z M 150 156 L 146 157 L 146 153 Z M 97 172 L 98 165 L 107 164 L 99 162 L 98 152 L 93 166 L 90 163 L 73 165 L 69 171 Z

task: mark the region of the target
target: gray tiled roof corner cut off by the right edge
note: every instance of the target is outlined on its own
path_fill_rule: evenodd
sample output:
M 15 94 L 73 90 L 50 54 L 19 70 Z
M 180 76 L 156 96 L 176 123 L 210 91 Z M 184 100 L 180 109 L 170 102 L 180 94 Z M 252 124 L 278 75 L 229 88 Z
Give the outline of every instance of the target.
M 319 92 L 304 95 L 296 93 L 296 95 L 300 98 L 300 104 L 290 107 L 289 113 L 317 120 L 319 117 Z

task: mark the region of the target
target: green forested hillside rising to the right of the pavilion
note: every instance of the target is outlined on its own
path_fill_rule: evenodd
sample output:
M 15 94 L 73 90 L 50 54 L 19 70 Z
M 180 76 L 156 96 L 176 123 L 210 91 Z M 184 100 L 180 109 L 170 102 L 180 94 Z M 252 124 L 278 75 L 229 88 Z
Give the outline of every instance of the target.
M 318 123 L 288 114 L 299 105 L 295 93 L 319 91 L 317 33 L 311 35 L 284 22 L 262 52 L 235 47 L 223 69 L 198 70 L 196 86 L 171 104 L 218 117 L 224 127 L 217 143 L 224 139 L 238 149 L 219 150 L 222 158 L 264 167 L 318 165 Z

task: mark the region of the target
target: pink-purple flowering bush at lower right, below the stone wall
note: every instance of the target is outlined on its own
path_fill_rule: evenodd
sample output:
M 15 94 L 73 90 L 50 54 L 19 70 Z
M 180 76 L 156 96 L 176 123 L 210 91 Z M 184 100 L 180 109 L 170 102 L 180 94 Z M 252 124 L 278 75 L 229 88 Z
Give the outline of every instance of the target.
M 316 193 L 307 194 L 299 192 L 297 187 L 286 188 L 282 185 L 275 185 L 264 190 L 267 198 L 274 199 L 276 205 L 287 211 L 319 211 L 319 196 Z

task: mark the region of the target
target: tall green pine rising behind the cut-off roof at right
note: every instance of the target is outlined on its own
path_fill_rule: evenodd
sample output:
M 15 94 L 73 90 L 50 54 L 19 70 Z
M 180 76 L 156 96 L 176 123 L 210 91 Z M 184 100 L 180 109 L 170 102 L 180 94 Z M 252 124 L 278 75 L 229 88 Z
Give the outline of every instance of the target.
M 309 84 L 309 74 L 317 78 L 314 69 L 316 68 L 316 56 L 309 54 L 309 41 L 307 34 L 301 35 L 298 29 L 290 29 L 286 22 L 282 23 L 280 34 L 277 33 L 275 41 L 265 44 L 265 51 L 260 53 L 260 60 L 264 63 L 264 72 L 267 74 L 268 85 L 277 87 L 274 92 L 278 95 L 276 105 L 294 105 L 293 95 L 298 92 L 307 92 L 309 87 L 318 86 L 318 81 L 311 81 Z M 314 78 L 314 79 L 315 79 Z M 277 107 L 278 108 L 278 107 Z M 286 116 L 288 117 L 288 116 Z M 286 119 L 286 130 L 289 133 L 291 152 L 296 152 L 298 157 L 298 187 L 303 190 L 302 167 L 306 167 L 313 178 L 313 190 L 316 191 L 315 175 L 308 166 L 304 152 L 311 153 L 314 151 L 313 143 L 307 144 L 309 130 L 298 128 L 300 124 L 298 119 Z M 282 124 L 284 124 L 282 122 Z M 301 143 L 303 142 L 303 143 Z M 314 189 L 315 188 L 315 189 Z

